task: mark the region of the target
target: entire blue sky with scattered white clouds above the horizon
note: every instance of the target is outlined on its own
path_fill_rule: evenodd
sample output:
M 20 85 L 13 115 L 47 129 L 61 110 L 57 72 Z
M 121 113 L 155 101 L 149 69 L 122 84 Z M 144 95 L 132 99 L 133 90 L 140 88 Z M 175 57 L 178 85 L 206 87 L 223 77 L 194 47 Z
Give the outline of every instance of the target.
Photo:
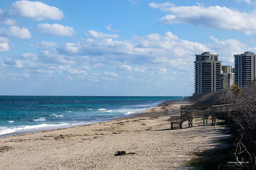
M 190 96 L 196 54 L 256 50 L 254 0 L 0 4 L 0 95 Z

